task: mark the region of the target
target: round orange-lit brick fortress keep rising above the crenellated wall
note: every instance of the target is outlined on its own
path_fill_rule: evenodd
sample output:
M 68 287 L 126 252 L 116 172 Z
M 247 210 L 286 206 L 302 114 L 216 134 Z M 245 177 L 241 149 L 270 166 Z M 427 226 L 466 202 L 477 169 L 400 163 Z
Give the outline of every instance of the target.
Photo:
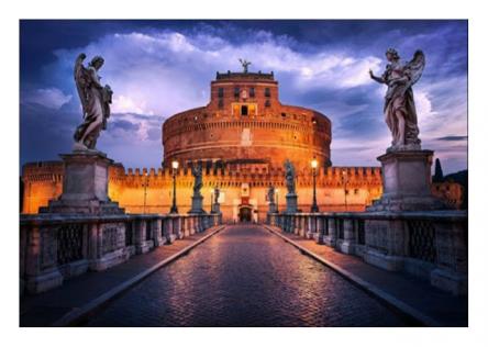
M 279 101 L 274 74 L 217 72 L 206 107 L 177 113 L 163 124 L 165 166 L 176 159 L 282 166 L 297 169 L 315 157 L 331 165 L 331 122 L 314 110 Z

